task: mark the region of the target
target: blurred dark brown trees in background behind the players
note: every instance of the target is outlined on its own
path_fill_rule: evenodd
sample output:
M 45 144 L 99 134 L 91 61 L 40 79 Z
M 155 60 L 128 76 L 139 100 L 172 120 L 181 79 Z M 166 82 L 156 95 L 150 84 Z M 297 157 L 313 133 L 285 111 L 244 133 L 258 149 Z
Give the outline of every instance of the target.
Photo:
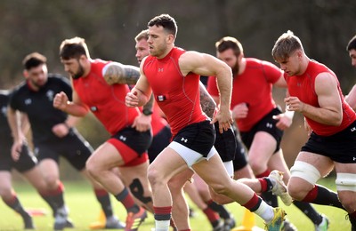
M 92 58 L 136 65 L 134 36 L 160 13 L 169 13 L 179 26 L 176 45 L 214 55 L 214 43 L 235 36 L 247 57 L 271 59 L 274 41 L 288 29 L 303 42 L 307 55 L 328 65 L 348 92 L 355 83 L 345 46 L 356 34 L 356 2 L 352 0 L 5 0 L 0 1 L 0 85 L 12 88 L 23 80 L 21 60 L 42 52 L 50 71 L 66 75 L 58 52 L 61 41 L 85 38 Z M 283 93 L 276 91 L 278 99 Z M 101 127 L 82 125 L 93 146 Z M 287 131 L 284 148 L 295 156 L 303 140 L 300 116 Z M 93 132 L 95 131 L 95 132 Z M 300 135 L 303 133 L 303 135 Z M 287 160 L 291 163 L 291 160 Z

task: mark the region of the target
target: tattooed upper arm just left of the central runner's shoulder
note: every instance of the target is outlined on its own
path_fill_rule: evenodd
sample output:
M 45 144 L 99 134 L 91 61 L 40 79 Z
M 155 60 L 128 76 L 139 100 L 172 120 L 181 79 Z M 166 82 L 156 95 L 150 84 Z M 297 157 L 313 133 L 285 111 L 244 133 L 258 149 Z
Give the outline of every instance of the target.
M 140 69 L 111 62 L 102 69 L 102 76 L 108 84 L 136 84 L 140 77 Z

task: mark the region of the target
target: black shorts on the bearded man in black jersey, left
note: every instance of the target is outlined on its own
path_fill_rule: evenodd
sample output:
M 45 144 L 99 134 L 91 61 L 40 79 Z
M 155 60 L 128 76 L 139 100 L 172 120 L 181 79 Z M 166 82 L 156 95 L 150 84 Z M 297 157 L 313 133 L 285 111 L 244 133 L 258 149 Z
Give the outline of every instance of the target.
M 62 139 L 35 144 L 35 155 L 39 162 L 49 158 L 60 163 L 61 155 L 77 171 L 84 170 L 85 163 L 92 153 L 93 147 L 75 129 L 71 129 Z

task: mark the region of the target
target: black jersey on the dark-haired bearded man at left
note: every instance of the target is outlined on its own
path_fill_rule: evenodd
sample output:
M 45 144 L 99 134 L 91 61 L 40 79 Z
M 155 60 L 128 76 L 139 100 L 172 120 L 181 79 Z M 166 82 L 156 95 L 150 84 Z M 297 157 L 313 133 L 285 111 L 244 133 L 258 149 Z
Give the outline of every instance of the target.
M 69 80 L 55 74 L 49 74 L 47 83 L 37 92 L 31 90 L 26 81 L 12 92 L 10 107 L 28 115 L 35 144 L 60 139 L 53 134 L 52 128 L 55 124 L 63 123 L 68 115 L 53 108 L 54 96 L 59 92 L 65 92 L 71 100 Z

